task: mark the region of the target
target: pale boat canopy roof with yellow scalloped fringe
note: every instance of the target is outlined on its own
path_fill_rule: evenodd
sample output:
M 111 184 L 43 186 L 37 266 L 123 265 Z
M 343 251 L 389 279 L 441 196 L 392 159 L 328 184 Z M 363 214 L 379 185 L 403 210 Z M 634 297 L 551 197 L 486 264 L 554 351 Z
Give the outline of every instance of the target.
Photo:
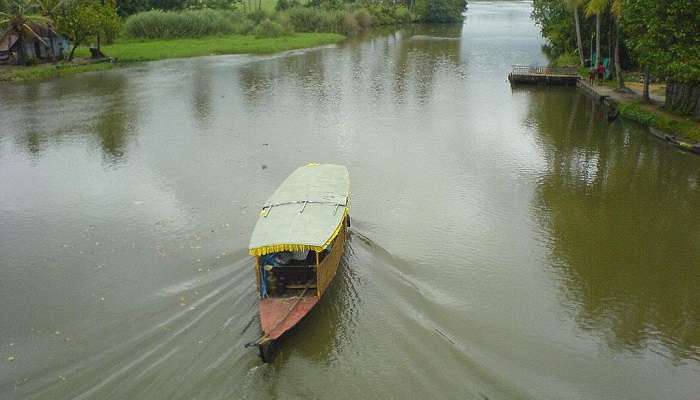
M 250 238 L 250 254 L 325 250 L 342 228 L 349 197 L 350 176 L 344 166 L 298 168 L 260 211 Z

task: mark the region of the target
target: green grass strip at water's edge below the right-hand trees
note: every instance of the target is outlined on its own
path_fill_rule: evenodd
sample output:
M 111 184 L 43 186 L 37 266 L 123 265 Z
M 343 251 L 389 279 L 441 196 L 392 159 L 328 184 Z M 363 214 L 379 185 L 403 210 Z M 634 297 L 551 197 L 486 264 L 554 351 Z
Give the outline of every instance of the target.
M 651 126 L 664 132 L 675 134 L 679 139 L 700 143 L 700 122 L 684 118 L 640 102 L 620 104 L 620 115 Z

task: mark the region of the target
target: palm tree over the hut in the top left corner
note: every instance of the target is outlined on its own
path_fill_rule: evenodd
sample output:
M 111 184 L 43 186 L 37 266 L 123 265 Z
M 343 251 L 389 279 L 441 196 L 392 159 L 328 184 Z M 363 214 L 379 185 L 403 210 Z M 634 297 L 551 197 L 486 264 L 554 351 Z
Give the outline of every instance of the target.
M 49 45 L 41 38 L 34 29 L 32 24 L 48 23 L 48 18 L 38 15 L 39 6 L 33 0 L 9 0 L 1 3 L 0 9 L 0 27 L 9 28 L 10 32 L 17 34 L 17 63 L 24 64 L 27 55 L 24 49 L 25 37 L 35 37 L 42 42 L 46 47 Z

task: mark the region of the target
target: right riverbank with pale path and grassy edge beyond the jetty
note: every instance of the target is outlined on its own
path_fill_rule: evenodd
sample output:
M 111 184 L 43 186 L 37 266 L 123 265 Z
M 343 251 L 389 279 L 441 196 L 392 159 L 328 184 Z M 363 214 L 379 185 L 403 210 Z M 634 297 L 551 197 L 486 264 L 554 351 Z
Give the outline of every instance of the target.
M 636 121 L 649 129 L 652 135 L 668 141 L 683 150 L 700 154 L 700 122 L 690 117 L 672 114 L 662 103 L 645 103 L 634 91 L 619 92 L 605 85 L 591 85 L 579 79 L 579 88 L 601 102 L 612 105 L 619 115 Z

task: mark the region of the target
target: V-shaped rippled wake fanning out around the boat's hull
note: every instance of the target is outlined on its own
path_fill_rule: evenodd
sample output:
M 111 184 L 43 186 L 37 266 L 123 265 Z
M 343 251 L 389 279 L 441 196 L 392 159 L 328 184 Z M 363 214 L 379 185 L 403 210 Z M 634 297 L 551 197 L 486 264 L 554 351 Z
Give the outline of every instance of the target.
M 115 315 L 113 325 L 86 331 L 85 343 L 99 346 L 31 374 L 14 393 L 27 399 L 325 398 L 335 392 L 323 382 L 337 374 L 392 360 L 401 368 L 382 370 L 382 379 L 421 382 L 422 391 L 409 385 L 387 395 L 431 396 L 462 382 L 482 398 L 527 397 L 486 366 L 490 355 L 480 349 L 479 336 L 493 332 L 465 315 L 455 318 L 451 297 L 426 278 L 425 265 L 392 254 L 357 222 L 333 285 L 285 337 L 272 364 L 244 348 L 260 327 L 252 261 L 241 250 L 221 267 L 154 292 L 139 309 Z M 313 380 L 299 375 L 309 368 Z M 426 369 L 439 373 L 428 380 Z

